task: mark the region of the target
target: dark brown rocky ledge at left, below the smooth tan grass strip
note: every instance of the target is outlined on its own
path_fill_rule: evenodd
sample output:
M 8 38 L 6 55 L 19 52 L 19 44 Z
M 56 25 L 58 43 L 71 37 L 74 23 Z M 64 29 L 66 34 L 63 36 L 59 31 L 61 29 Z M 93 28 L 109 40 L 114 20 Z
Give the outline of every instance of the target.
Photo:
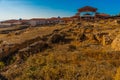
M 43 42 L 42 38 L 36 37 L 34 39 L 26 40 L 20 44 L 10 44 L 7 41 L 3 41 L 0 44 L 0 60 L 9 57 L 16 53 L 35 53 L 43 51 L 48 47 L 48 44 Z

